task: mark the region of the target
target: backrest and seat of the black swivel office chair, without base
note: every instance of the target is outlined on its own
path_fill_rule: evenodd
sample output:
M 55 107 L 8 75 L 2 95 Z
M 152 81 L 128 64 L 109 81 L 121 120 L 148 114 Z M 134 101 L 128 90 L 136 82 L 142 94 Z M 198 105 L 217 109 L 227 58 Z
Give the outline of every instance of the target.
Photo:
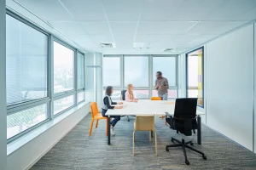
M 196 116 L 196 107 L 197 98 L 176 99 L 174 117 L 184 120 L 174 119 L 174 124 L 177 130 L 186 136 L 192 135 L 192 130 L 196 128 L 196 120 L 191 121 L 191 118 Z

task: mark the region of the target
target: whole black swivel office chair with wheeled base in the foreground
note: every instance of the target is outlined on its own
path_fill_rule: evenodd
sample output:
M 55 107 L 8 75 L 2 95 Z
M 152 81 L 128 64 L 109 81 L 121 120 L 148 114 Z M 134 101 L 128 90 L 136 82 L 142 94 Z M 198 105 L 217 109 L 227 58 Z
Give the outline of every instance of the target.
M 185 136 L 191 136 L 192 131 L 195 133 L 195 129 L 197 128 L 196 122 L 196 107 L 197 107 L 197 98 L 184 98 L 184 99 L 176 99 L 174 116 L 172 117 L 169 113 L 166 113 L 166 122 L 170 125 L 170 127 L 174 130 L 177 130 L 177 133 L 183 133 Z M 181 146 L 183 148 L 183 154 L 185 156 L 185 163 L 189 165 L 189 160 L 187 158 L 185 148 L 189 150 L 193 150 L 202 155 L 204 160 L 207 160 L 207 156 L 199 150 L 195 150 L 190 145 L 193 145 L 192 141 L 185 142 L 184 139 L 182 141 L 172 138 L 172 142 L 177 142 L 177 144 L 166 145 L 166 151 L 169 151 L 171 147 Z

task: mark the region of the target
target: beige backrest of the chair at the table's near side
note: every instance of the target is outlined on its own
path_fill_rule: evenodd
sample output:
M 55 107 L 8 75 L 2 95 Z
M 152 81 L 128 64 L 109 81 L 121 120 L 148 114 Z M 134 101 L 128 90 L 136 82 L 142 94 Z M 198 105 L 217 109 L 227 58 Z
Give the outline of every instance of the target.
M 154 131 L 154 116 L 136 116 L 134 130 Z

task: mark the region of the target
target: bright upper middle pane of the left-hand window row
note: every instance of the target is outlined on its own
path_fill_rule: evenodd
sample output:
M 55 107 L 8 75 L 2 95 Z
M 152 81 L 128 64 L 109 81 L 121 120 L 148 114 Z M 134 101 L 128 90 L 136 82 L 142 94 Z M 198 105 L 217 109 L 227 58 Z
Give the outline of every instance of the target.
M 74 89 L 74 51 L 54 42 L 54 93 Z

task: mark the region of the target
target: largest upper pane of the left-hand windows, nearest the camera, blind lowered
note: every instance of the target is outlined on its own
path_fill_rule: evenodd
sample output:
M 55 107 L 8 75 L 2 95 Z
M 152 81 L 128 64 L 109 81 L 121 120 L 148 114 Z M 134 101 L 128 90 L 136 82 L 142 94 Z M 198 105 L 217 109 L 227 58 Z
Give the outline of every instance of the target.
M 48 36 L 6 15 L 7 104 L 48 96 Z

